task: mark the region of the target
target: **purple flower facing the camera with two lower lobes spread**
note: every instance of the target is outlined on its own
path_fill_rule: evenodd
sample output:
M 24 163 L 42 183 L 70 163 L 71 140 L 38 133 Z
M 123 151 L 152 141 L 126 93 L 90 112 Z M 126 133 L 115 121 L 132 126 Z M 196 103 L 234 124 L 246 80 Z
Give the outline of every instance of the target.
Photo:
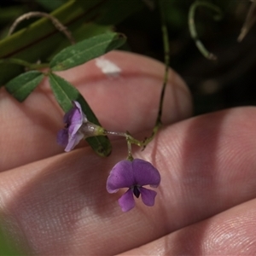
M 144 185 L 158 187 L 160 173 L 149 162 L 141 159 L 122 160 L 113 166 L 108 176 L 108 193 L 115 193 L 121 188 L 129 188 L 119 198 L 119 206 L 123 212 L 130 211 L 135 206 L 133 195 L 142 195 L 143 203 L 148 207 L 154 206 L 156 192 L 143 188 Z M 133 194 L 133 195 L 132 195 Z

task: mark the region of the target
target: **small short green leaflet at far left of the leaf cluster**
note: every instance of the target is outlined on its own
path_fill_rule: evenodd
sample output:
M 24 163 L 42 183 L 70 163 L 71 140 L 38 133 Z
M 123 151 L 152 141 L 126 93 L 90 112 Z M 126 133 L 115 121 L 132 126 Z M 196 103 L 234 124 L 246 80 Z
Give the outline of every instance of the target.
M 23 102 L 44 79 L 44 74 L 39 71 L 29 71 L 15 77 L 5 85 L 6 90 L 19 102 Z

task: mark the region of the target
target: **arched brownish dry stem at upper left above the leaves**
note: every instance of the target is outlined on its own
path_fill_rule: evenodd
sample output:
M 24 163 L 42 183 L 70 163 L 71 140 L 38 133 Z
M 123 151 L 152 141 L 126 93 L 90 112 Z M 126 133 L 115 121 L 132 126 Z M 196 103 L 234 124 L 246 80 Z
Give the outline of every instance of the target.
M 67 39 L 70 41 L 71 44 L 75 44 L 75 40 L 72 36 L 72 33 L 67 29 L 66 26 L 63 26 L 61 24 L 61 21 L 56 19 L 54 16 L 49 15 L 47 13 L 42 13 L 42 12 L 29 12 L 26 13 L 25 15 L 21 15 L 19 18 L 17 18 L 15 20 L 15 22 L 13 23 L 13 25 L 10 27 L 9 29 L 9 33 L 8 36 L 10 36 L 14 31 L 16 26 L 18 26 L 18 24 L 22 21 L 22 20 L 28 20 L 32 17 L 44 17 L 47 18 L 49 20 L 51 20 L 51 22 L 53 23 L 53 25 L 55 26 L 55 28 L 57 30 L 59 30 L 60 32 L 64 33 L 65 36 L 67 37 Z

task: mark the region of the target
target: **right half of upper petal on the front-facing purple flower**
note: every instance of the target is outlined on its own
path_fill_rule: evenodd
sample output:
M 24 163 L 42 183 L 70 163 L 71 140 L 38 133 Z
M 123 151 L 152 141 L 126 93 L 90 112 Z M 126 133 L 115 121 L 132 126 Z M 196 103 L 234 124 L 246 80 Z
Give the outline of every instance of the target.
M 160 184 L 160 173 L 149 162 L 141 159 L 132 161 L 132 167 L 136 183 L 140 186 L 150 185 L 158 187 Z

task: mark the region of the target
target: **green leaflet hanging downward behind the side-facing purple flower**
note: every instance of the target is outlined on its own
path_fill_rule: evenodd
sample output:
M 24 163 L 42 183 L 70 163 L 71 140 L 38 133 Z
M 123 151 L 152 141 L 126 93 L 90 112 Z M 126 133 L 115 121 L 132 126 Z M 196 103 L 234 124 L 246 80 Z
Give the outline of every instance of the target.
M 101 125 L 96 118 L 96 115 L 90 109 L 88 103 L 84 100 L 84 97 L 72 84 L 69 84 L 65 79 L 62 79 L 54 73 L 49 74 L 49 84 L 54 92 L 57 102 L 59 102 L 65 113 L 73 107 L 72 101 L 77 101 L 80 103 L 87 119 L 90 120 L 91 123 Z M 108 137 L 88 137 L 86 138 L 86 141 L 90 144 L 90 147 L 96 154 L 99 154 L 100 156 L 108 156 L 111 153 L 111 143 L 108 140 Z

